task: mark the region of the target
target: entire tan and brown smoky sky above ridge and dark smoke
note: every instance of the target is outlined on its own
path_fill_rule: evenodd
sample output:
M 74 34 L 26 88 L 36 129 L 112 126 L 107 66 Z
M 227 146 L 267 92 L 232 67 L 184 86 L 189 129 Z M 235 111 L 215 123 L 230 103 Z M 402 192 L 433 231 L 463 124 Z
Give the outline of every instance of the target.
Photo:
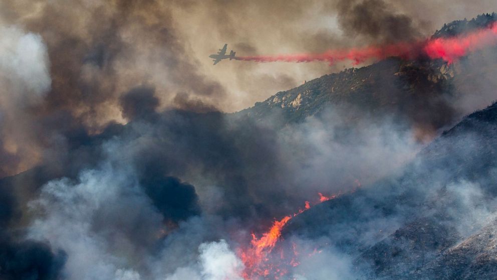
M 159 110 L 233 112 L 304 80 L 352 67 L 346 61 L 213 66 L 208 55 L 224 43 L 239 56 L 361 47 L 430 36 L 444 23 L 494 12 L 494 4 L 0 1 L 0 146 L 5 151 L 0 156 L 6 162 L 0 174 L 25 170 L 42 157 L 40 147 L 53 142 L 46 136 L 48 127 L 70 127 L 55 115 L 68 114 L 94 132 L 109 121 L 127 122 L 121 97 L 136 88 L 152 89 Z M 40 125 L 41 119 L 48 123 Z

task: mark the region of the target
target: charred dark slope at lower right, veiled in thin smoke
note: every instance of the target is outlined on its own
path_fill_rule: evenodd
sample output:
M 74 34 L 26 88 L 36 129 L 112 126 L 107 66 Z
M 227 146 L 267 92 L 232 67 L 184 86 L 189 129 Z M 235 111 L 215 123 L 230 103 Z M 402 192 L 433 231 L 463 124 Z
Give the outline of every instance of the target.
M 493 237 L 483 227 L 497 209 L 495 136 L 497 103 L 444 132 L 400 176 L 318 205 L 284 233 L 327 236 L 363 276 L 492 278 L 484 267 L 493 263 Z

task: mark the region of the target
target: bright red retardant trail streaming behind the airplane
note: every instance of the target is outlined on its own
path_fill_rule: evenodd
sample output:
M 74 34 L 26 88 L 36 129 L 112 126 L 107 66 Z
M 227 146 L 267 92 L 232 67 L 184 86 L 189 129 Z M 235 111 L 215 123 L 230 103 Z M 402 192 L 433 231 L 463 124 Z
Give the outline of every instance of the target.
M 418 42 L 400 42 L 384 46 L 368 46 L 342 50 L 329 50 L 318 54 L 283 54 L 266 56 L 241 56 L 242 61 L 256 62 L 311 62 L 326 61 L 330 65 L 350 60 L 357 65 L 366 61 L 377 61 L 387 57 L 414 59 L 428 56 L 431 59 L 443 59 L 449 64 L 469 52 L 497 45 L 497 23 L 484 29 L 478 29 L 465 35 L 452 38 L 427 39 Z

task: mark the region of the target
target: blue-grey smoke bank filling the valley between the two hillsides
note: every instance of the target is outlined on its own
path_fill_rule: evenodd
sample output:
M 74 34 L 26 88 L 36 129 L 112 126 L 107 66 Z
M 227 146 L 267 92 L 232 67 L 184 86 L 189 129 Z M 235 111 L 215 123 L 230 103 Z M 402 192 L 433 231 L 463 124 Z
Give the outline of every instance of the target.
M 133 92 L 123 112 L 154 104 L 150 90 Z M 264 230 L 303 199 L 317 200 L 318 191 L 348 192 L 358 179 L 395 173 L 418 149 L 387 122 L 345 131 L 339 111 L 280 132 L 271 122 L 219 113 L 150 113 L 98 144 L 89 140 L 101 146 L 99 163 L 49 181 L 30 204 L 31 213 L 44 213 L 31 223 L 30 238 L 67 253 L 68 278 L 239 279 L 235 248 L 250 240 L 250 229 Z M 357 133 L 365 142 L 350 142 Z M 327 176 L 326 166 L 341 164 Z

